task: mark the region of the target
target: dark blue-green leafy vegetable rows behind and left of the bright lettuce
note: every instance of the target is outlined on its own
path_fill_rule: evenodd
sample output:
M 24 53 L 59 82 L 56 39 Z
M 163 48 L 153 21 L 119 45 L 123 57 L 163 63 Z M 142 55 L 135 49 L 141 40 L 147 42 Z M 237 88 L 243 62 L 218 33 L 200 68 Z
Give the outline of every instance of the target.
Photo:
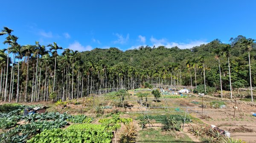
M 36 113 L 23 117 L 22 111 L 26 107 L 28 106 L 20 104 L 0 105 L 0 129 L 11 128 L 7 132 L 0 133 L 0 143 L 26 143 L 28 138 L 41 133 L 43 130 L 58 129 L 67 125 L 67 121 L 73 123 L 90 123 L 93 121 L 93 118 L 88 118 L 85 115 L 72 116 L 59 112 Z M 16 126 L 21 119 L 25 120 L 26 124 Z

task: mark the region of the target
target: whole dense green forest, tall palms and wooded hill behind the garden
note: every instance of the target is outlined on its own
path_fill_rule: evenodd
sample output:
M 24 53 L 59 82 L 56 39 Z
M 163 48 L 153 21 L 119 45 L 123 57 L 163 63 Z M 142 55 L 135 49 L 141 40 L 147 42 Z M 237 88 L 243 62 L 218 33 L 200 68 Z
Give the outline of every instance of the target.
M 141 46 L 78 52 L 55 42 L 19 45 L 12 32 L 4 27 L 0 33 L 6 45 L 0 50 L 3 101 L 67 100 L 99 89 L 139 88 L 145 82 L 231 91 L 256 85 L 256 43 L 241 35 L 230 44 L 215 39 L 191 49 Z

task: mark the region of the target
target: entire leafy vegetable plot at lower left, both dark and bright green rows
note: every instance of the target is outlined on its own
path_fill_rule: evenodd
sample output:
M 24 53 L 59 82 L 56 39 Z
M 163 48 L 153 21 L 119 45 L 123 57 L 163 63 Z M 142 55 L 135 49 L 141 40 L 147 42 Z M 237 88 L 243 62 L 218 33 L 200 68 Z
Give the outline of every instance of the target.
M 23 116 L 22 111 L 26 107 L 20 104 L 0 105 L 0 143 L 111 143 L 112 131 L 120 128 L 120 123 L 132 121 L 131 118 L 111 115 L 100 119 L 100 124 L 93 124 L 94 119 L 86 115 L 58 112 Z M 67 125 L 70 126 L 62 129 Z

